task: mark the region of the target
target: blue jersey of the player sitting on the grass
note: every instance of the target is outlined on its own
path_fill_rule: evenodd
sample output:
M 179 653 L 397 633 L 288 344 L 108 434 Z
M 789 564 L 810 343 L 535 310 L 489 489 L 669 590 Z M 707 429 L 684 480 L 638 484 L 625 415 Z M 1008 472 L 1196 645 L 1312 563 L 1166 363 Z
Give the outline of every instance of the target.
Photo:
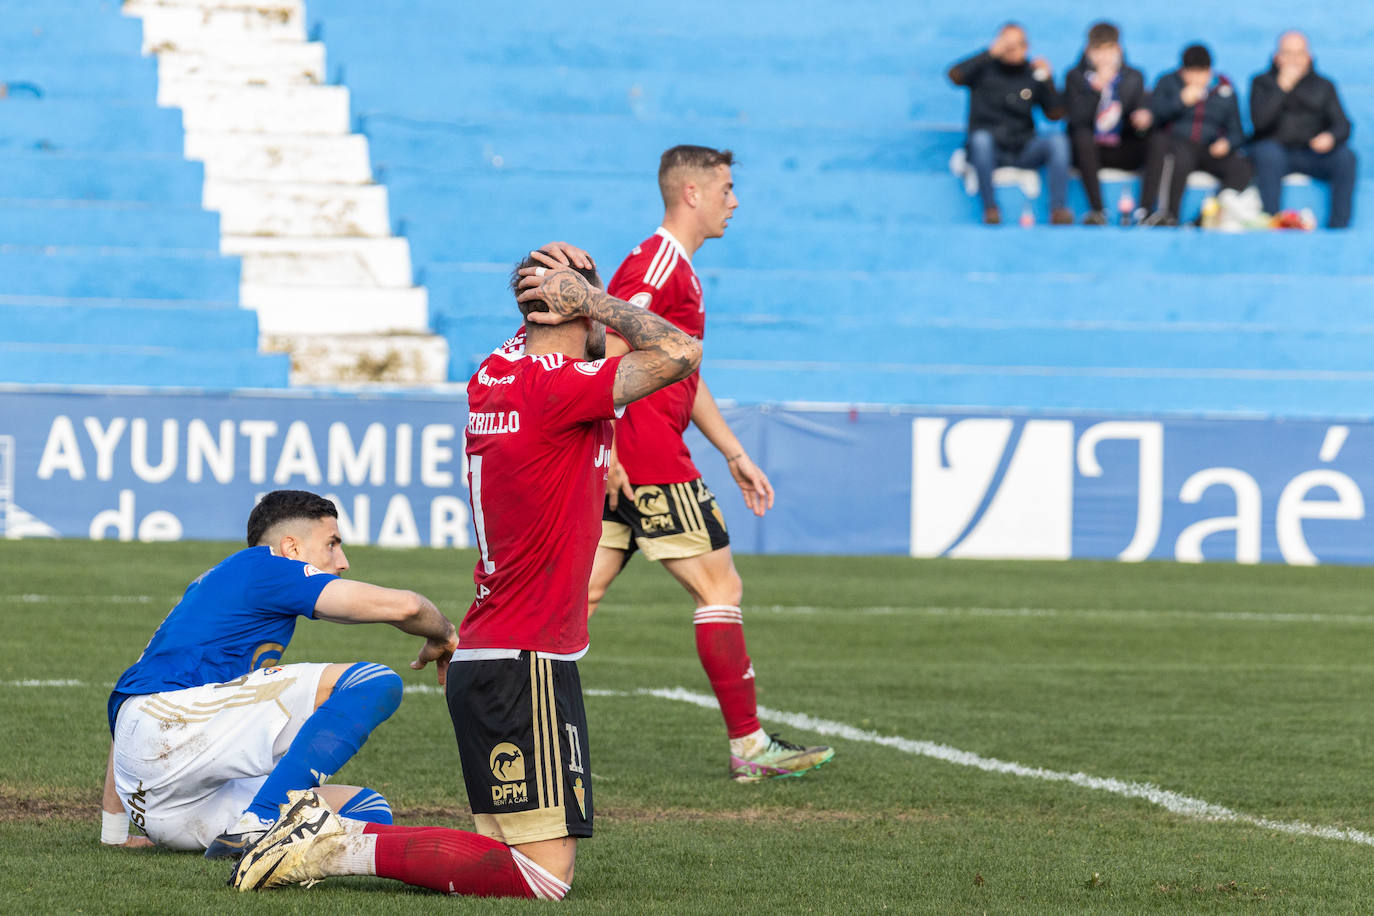
M 301 560 L 250 547 L 191 582 L 147 648 L 110 694 L 110 731 L 131 696 L 223 684 L 276 665 L 297 617 L 338 577 Z

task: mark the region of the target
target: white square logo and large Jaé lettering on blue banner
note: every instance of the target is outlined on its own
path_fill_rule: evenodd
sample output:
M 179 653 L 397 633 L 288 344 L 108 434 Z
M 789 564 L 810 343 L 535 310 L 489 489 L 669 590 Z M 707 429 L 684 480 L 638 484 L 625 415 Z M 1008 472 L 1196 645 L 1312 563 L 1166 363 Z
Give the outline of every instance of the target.
M 1314 564 L 1304 522 L 1364 518 L 1360 486 L 1330 467 L 1349 431 L 1308 423 L 1281 434 L 1272 423 L 1245 420 L 916 417 L 911 555 L 1066 559 L 1077 551 L 1121 560 Z M 1121 468 L 1105 468 L 1102 456 L 1123 453 L 1134 479 L 1106 486 Z M 1358 470 L 1369 461 L 1344 464 Z M 1333 538 L 1353 544 L 1359 534 L 1325 530 L 1329 547 Z M 1205 555 L 1212 536 L 1220 537 Z

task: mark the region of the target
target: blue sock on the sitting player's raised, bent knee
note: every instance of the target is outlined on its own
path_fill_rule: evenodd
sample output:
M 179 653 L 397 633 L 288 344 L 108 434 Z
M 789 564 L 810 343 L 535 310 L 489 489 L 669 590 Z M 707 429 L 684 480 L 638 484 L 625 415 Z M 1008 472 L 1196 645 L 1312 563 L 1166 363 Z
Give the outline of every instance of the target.
M 372 662 L 350 666 L 330 698 L 305 720 L 247 810 L 276 820 L 289 791 L 324 783 L 400 705 L 401 678 L 396 672 Z

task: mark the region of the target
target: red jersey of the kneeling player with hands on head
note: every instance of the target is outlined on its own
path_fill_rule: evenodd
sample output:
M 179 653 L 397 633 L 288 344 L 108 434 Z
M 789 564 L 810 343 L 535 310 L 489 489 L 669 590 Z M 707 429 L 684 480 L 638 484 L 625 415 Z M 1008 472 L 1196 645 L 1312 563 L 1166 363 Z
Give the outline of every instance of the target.
M 467 486 L 481 556 L 460 648 L 587 648 L 618 364 L 526 356 L 517 335 L 467 383 Z

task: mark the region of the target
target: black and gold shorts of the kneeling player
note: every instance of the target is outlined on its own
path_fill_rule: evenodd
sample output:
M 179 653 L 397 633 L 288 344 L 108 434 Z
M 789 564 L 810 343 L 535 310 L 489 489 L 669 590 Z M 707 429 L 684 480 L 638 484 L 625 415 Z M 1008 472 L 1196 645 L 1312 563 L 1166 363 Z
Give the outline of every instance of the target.
M 478 834 L 508 846 L 592 835 L 577 662 L 539 652 L 455 661 L 445 695 Z

